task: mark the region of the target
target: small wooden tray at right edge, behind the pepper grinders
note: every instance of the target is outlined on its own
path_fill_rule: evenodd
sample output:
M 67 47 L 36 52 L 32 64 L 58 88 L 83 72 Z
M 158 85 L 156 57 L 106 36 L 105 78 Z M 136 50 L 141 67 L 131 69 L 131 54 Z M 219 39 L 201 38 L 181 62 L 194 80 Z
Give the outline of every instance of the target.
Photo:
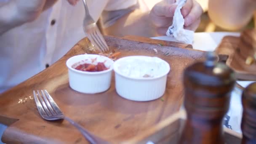
M 256 31 L 245 30 L 240 37 L 226 36 L 216 48 L 220 60 L 226 61 L 227 66 L 236 72 L 240 80 L 256 80 L 256 61 L 251 65 L 245 64 L 248 56 L 256 53 Z

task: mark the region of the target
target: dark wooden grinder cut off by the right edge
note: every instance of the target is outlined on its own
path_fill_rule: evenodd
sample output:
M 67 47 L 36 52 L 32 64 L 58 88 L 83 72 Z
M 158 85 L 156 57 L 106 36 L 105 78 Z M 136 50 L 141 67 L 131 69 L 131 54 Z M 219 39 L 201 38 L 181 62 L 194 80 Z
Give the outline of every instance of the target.
M 242 144 L 256 144 L 256 83 L 251 83 L 242 95 Z

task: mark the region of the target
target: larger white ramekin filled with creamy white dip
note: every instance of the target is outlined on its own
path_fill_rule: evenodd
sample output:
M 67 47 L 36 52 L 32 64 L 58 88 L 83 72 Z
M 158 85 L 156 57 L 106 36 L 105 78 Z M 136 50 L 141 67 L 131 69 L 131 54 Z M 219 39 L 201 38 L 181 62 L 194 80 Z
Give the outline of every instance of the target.
M 156 58 L 156 57 L 155 57 Z M 151 101 L 160 98 L 165 93 L 167 75 L 170 72 L 170 65 L 160 59 L 164 64 L 162 75 L 157 77 L 129 77 L 118 69 L 122 61 L 128 59 L 152 59 L 150 56 L 127 56 L 115 61 L 113 67 L 115 71 L 115 88 L 121 97 L 133 101 Z

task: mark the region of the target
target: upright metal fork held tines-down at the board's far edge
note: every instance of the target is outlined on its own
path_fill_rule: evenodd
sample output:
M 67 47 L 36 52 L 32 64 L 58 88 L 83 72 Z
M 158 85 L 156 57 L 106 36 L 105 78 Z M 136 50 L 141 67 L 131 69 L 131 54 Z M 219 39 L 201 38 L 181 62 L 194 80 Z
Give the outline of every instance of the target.
M 96 22 L 93 20 L 89 13 L 89 9 L 86 3 L 86 0 L 83 0 L 83 4 L 85 6 L 85 18 L 83 20 L 83 30 L 88 35 L 89 40 L 93 44 L 94 47 L 99 49 L 102 52 L 108 51 L 109 47 L 102 36 Z

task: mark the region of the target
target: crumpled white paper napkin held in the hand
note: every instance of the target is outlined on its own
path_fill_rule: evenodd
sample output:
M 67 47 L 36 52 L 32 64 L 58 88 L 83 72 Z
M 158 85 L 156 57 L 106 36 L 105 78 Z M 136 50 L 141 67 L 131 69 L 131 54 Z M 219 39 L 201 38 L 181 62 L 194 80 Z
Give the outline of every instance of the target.
M 187 0 L 176 0 L 176 9 L 173 16 L 173 24 L 168 28 L 166 35 L 172 36 L 176 40 L 192 44 L 194 40 L 194 31 L 184 29 L 185 20 L 181 14 L 181 8 L 185 5 Z

